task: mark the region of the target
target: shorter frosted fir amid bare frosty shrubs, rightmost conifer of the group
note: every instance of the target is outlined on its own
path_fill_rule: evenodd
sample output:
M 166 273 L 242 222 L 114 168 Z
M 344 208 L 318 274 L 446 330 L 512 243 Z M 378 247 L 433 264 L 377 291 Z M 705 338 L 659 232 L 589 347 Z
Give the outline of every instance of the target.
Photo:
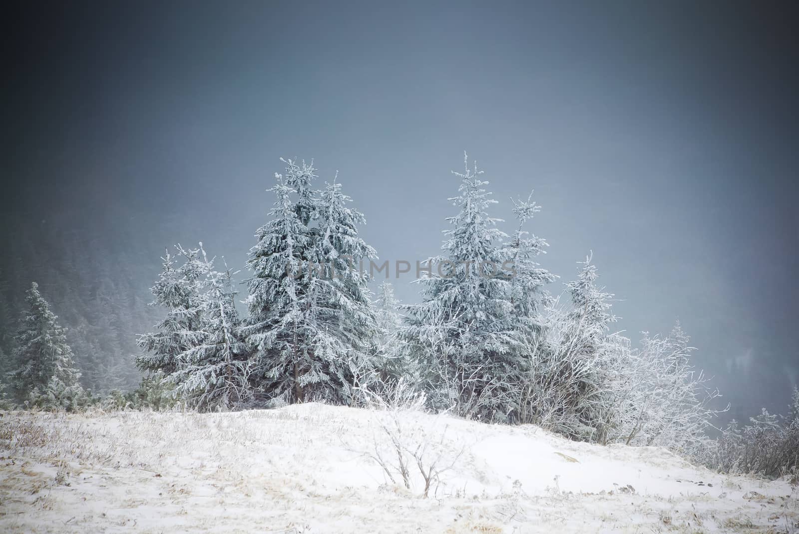
M 613 295 L 596 286 L 590 257 L 566 284 L 571 307 L 548 307 L 545 335 L 524 338 L 519 380 L 521 417 L 575 439 L 606 442 L 618 426 L 621 395 L 630 381 L 628 340 L 610 333 Z

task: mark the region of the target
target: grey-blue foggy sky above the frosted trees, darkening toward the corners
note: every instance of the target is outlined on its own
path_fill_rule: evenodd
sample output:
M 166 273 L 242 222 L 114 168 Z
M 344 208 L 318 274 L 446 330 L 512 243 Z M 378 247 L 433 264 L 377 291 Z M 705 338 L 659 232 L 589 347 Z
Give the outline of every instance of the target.
M 173 225 L 169 243 L 142 230 L 153 279 L 178 242 L 243 268 L 279 158 L 313 158 L 320 187 L 340 171 L 381 259 L 413 261 L 439 251 L 467 150 L 503 230 L 510 197 L 535 189 L 552 291 L 593 251 L 620 329 L 679 318 L 725 400 L 785 411 L 799 379 L 788 3 L 232 3 L 8 10 L 4 209 Z M 392 280 L 405 302 L 411 279 Z

